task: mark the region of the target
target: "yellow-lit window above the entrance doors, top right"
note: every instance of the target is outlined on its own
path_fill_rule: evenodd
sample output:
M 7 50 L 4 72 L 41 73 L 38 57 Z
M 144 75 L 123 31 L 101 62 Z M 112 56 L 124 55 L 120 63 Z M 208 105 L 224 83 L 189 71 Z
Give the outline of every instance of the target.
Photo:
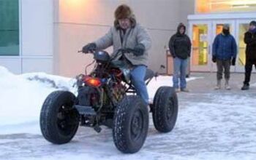
M 255 12 L 256 0 L 197 0 L 197 13 Z

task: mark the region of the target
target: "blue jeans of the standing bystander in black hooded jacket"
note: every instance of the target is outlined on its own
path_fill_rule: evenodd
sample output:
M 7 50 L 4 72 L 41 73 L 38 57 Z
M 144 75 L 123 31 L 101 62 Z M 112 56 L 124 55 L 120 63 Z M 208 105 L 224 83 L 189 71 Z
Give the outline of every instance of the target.
M 178 79 L 180 79 L 180 88 L 187 87 L 186 71 L 187 71 L 187 59 L 181 59 L 175 57 L 173 60 L 173 87 L 178 89 Z

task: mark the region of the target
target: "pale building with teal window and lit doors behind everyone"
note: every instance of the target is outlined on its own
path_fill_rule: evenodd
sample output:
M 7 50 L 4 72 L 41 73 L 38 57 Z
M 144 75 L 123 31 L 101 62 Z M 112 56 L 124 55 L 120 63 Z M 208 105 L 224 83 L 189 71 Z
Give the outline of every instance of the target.
M 233 71 L 243 71 L 241 39 L 256 19 L 256 1 L 250 0 L 0 0 L 0 65 L 14 73 L 83 73 L 92 56 L 78 50 L 108 31 L 119 4 L 132 7 L 138 23 L 148 29 L 153 41 L 149 68 L 154 71 L 167 65 L 166 47 L 181 22 L 192 39 L 191 71 L 215 71 L 211 44 L 224 23 L 230 23 L 238 41 Z

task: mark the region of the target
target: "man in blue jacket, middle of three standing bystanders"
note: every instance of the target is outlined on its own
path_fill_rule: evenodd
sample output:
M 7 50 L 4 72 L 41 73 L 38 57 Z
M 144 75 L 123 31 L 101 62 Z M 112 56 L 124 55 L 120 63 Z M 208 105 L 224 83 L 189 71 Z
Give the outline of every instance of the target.
M 212 61 L 217 63 L 217 87 L 221 89 L 222 73 L 225 73 L 225 89 L 230 89 L 230 65 L 236 65 L 237 45 L 236 40 L 230 35 L 230 26 L 225 24 L 222 33 L 215 39 L 212 50 Z

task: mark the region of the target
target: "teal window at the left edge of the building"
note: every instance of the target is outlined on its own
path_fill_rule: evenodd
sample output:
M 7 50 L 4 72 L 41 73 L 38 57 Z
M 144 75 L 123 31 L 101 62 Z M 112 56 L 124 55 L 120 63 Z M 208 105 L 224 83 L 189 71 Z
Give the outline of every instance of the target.
M 19 55 L 18 0 L 0 0 L 0 56 Z

